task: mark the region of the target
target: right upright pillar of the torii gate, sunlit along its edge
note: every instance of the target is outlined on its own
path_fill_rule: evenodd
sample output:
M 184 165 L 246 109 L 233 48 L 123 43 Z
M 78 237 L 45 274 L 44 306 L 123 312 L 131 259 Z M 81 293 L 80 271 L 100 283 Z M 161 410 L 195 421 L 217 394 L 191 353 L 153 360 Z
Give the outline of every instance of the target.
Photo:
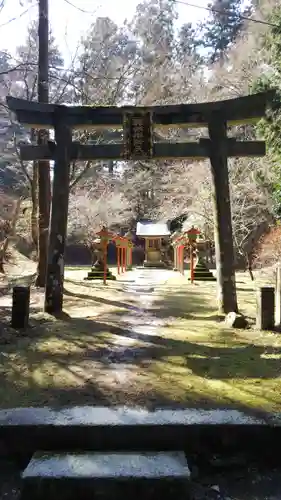
M 215 250 L 220 313 L 238 312 L 231 205 L 227 166 L 226 123 L 213 113 L 208 124 L 213 178 Z

